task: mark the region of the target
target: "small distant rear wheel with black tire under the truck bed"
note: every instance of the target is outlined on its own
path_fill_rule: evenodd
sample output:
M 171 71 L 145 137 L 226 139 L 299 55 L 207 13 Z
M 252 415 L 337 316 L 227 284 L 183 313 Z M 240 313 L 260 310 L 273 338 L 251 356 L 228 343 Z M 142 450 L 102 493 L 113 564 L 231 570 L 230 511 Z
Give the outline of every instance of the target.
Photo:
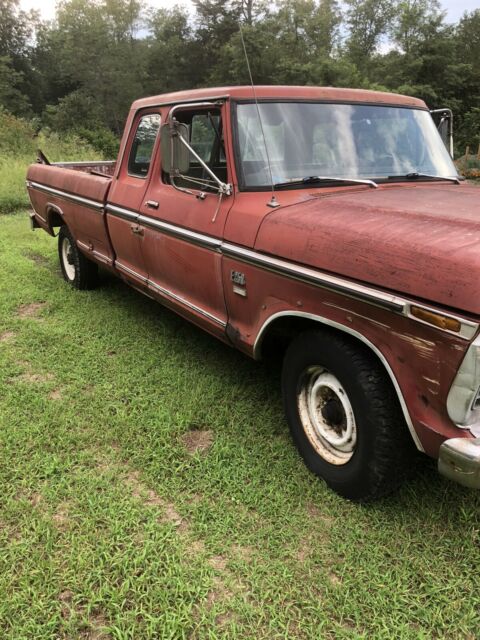
M 66 225 L 58 233 L 58 257 L 65 280 L 75 289 L 94 289 L 98 284 L 98 266 L 77 247 Z

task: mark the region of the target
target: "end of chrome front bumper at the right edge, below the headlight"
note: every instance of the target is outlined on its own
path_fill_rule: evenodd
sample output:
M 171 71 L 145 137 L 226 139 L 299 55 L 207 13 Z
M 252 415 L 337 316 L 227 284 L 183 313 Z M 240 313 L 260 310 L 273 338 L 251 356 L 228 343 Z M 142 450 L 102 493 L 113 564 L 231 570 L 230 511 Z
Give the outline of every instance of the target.
M 464 487 L 480 489 L 480 438 L 450 438 L 440 447 L 438 471 Z

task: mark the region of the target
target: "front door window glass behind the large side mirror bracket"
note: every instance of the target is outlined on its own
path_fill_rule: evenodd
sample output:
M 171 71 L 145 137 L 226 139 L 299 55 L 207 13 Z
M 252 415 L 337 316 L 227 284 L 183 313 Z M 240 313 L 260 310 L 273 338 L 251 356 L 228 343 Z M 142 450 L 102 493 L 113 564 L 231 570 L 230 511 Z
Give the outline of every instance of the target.
M 204 109 L 197 112 L 179 111 L 175 117 L 188 125 L 188 142 L 192 149 L 220 180 L 226 182 L 227 160 L 220 112 L 216 109 L 208 111 Z M 168 181 L 166 175 L 164 175 L 164 179 Z M 188 189 L 200 188 L 208 191 L 211 182 L 213 182 L 211 177 L 193 155 L 190 157 L 190 167 L 187 174 L 181 178 L 175 178 L 177 186 Z

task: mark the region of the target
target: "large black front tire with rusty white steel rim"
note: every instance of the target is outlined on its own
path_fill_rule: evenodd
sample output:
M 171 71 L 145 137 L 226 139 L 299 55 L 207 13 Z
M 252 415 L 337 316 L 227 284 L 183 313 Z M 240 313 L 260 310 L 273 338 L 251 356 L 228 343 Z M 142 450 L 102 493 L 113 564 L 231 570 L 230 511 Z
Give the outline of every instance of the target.
M 335 331 L 300 334 L 285 355 L 282 392 L 301 456 L 335 492 L 367 502 L 404 480 L 412 438 L 385 369 L 363 345 Z

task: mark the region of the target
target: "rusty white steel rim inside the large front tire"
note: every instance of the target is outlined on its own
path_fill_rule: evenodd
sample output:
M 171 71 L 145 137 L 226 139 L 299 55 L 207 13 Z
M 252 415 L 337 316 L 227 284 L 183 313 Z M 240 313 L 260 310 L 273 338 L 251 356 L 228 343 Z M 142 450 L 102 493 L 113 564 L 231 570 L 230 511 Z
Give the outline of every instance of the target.
M 300 378 L 298 413 L 315 451 L 330 464 L 352 457 L 357 426 L 350 400 L 341 382 L 322 367 L 310 367 Z

